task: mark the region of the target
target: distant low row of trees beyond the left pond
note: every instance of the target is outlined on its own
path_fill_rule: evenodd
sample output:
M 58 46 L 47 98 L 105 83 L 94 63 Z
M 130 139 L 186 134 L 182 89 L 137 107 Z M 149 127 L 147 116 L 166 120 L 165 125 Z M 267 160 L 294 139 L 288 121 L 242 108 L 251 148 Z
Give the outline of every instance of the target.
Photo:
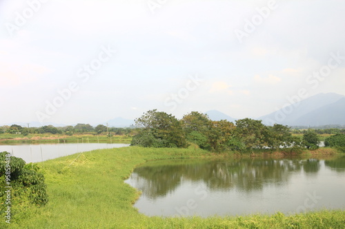
M 21 127 L 18 124 L 12 124 L 12 126 L 3 126 L 0 129 L 0 133 L 20 133 L 28 135 L 29 133 L 52 133 L 52 134 L 67 134 L 72 135 L 73 133 L 94 133 L 101 134 L 112 132 L 115 135 L 131 135 L 132 128 L 117 128 L 117 127 L 106 127 L 103 124 L 92 127 L 90 124 L 77 124 L 75 126 L 67 127 L 53 127 L 52 125 L 43 127 Z

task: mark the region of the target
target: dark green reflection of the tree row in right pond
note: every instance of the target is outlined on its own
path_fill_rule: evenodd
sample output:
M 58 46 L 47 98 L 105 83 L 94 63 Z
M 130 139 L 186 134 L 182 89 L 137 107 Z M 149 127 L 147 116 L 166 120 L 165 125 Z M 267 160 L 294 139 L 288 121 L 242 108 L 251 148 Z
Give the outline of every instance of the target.
M 180 163 L 179 163 L 180 162 Z M 189 162 L 189 163 L 188 163 Z M 210 190 L 250 192 L 261 190 L 264 184 L 280 186 L 286 184 L 290 175 L 303 171 L 317 173 L 319 160 L 259 160 L 242 159 L 233 161 L 174 160 L 144 164 L 135 168 L 131 179 L 135 179 L 143 195 L 155 199 L 172 193 L 183 181 L 204 182 Z

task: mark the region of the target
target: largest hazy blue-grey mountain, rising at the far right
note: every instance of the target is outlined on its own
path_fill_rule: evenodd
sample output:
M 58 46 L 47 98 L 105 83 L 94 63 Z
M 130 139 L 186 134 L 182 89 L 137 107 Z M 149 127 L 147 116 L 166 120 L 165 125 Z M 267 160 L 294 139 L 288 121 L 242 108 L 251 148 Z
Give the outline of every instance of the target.
M 345 96 L 327 93 L 317 94 L 305 100 L 290 104 L 278 111 L 262 116 L 264 124 L 285 124 L 288 126 L 318 126 L 342 124 L 345 122 Z

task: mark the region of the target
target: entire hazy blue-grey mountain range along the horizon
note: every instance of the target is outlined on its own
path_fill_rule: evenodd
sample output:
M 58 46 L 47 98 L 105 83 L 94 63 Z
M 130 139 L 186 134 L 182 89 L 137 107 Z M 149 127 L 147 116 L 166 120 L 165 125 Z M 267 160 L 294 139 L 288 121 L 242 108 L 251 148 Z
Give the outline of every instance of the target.
M 293 126 L 307 126 L 319 127 L 328 124 L 332 125 L 345 125 L 345 96 L 335 93 L 321 93 L 311 96 L 304 100 L 295 98 L 290 99 L 288 103 L 282 108 L 266 116 L 255 118 L 262 120 L 266 125 L 284 124 L 290 127 Z M 217 110 L 206 111 L 206 114 L 211 120 L 228 120 L 235 123 L 235 118 L 228 116 Z M 245 117 L 244 117 L 245 118 Z M 117 117 L 108 122 L 108 127 L 130 127 L 135 124 L 134 120 Z M 19 124 L 21 127 L 27 127 L 28 123 L 16 122 L 11 124 Z M 8 125 L 11 125 L 8 124 Z M 54 127 L 66 127 L 66 124 L 57 124 L 46 122 L 30 122 L 30 127 L 41 127 L 42 125 L 53 125 Z

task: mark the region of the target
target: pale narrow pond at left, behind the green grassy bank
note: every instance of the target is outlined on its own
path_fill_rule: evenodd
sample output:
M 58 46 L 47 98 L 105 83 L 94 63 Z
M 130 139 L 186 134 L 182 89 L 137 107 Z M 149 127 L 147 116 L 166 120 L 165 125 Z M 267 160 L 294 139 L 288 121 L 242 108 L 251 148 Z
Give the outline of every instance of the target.
M 75 153 L 95 149 L 111 149 L 129 146 L 129 144 L 107 143 L 60 143 L 60 144 L 14 144 L 0 145 L 0 152 L 8 151 L 15 157 L 21 157 L 26 163 L 42 162 Z

